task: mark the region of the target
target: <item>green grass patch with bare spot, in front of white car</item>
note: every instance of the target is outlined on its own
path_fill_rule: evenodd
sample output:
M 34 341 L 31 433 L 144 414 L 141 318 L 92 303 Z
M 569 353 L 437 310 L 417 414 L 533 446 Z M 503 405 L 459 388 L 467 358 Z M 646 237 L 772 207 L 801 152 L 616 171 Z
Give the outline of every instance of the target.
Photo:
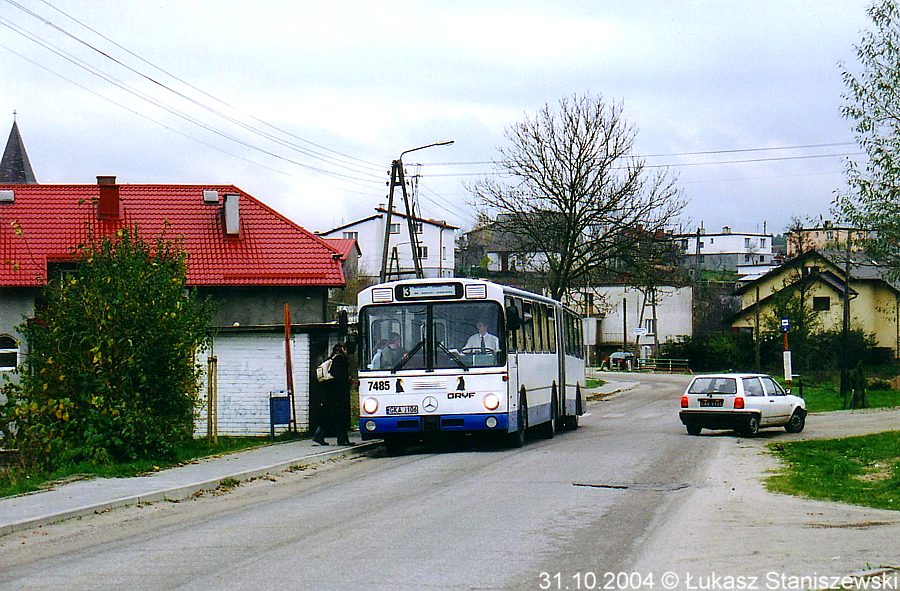
M 769 448 L 783 462 L 770 491 L 900 511 L 900 431 Z

